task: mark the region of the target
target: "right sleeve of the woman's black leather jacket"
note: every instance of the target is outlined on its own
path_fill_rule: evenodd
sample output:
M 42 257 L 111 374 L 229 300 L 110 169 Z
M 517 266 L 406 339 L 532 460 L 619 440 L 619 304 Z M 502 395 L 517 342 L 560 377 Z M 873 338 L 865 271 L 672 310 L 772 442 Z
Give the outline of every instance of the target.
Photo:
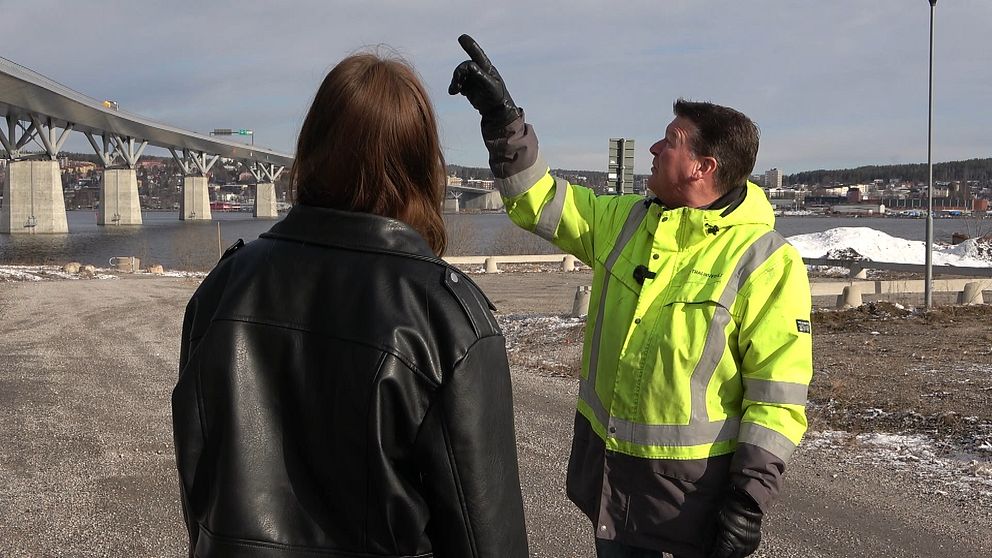
M 502 336 L 477 341 L 441 385 L 418 435 L 437 558 L 527 556 Z

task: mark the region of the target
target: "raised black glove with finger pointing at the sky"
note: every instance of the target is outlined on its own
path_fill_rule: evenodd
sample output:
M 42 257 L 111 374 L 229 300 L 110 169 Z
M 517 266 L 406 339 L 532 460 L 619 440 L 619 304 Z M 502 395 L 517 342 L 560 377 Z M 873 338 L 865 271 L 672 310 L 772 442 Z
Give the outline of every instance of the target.
M 482 115 L 484 126 L 502 127 L 516 120 L 520 110 L 513 104 L 503 78 L 486 53 L 482 52 L 482 47 L 468 35 L 458 37 L 458 44 L 462 45 L 471 60 L 455 68 L 448 94 L 461 93 L 468 97 L 468 102 Z

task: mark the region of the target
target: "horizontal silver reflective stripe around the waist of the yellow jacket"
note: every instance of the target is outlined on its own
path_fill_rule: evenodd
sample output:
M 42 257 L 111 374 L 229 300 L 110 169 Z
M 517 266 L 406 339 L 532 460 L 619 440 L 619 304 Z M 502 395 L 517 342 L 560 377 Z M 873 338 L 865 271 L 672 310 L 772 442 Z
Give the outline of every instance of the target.
M 642 446 L 698 446 L 733 440 L 740 429 L 740 417 L 708 422 L 692 420 L 689 424 L 641 424 L 611 418 L 596 390 L 589 382 L 579 386 L 579 397 L 589 405 L 596 420 L 607 427 L 611 438 Z

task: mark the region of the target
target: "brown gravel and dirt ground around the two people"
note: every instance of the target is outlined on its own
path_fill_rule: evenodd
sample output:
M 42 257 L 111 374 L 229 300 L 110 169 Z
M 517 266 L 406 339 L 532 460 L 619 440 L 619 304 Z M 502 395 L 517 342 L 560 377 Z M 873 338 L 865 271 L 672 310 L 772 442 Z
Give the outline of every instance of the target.
M 512 351 L 532 555 L 591 557 L 590 527 L 563 486 L 582 327 L 563 314 L 588 273 L 475 279 L 500 308 Z M 0 556 L 185 555 L 169 394 L 183 307 L 197 284 L 148 276 L 0 283 Z M 987 355 L 951 366 L 974 362 L 970 372 L 942 374 L 950 368 L 925 358 L 899 376 L 903 361 L 871 366 L 872 353 L 859 352 L 868 339 L 923 353 L 950 333 L 988 331 L 990 317 L 963 313 L 939 330 L 913 329 L 903 317 L 892 319 L 905 329 L 870 316 L 819 325 L 817 432 L 797 452 L 759 556 L 992 553 L 992 445 L 982 449 L 990 392 L 979 391 L 992 385 Z M 847 344 L 829 345 L 837 341 Z M 844 375 L 855 367 L 860 376 Z M 881 389 L 892 374 L 907 378 L 899 397 Z M 870 389 L 859 399 L 862 384 Z M 921 397 L 936 392 L 947 395 Z M 934 400 L 938 413 L 927 409 Z M 898 436 L 872 437 L 880 434 Z

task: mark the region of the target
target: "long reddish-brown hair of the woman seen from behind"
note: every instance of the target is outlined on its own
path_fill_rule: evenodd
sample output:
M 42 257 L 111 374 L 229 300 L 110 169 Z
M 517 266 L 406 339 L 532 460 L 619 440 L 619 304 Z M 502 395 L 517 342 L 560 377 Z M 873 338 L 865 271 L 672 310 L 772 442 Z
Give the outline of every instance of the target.
M 444 253 L 437 120 L 402 59 L 359 53 L 327 74 L 303 121 L 291 180 L 302 204 L 399 219 Z

